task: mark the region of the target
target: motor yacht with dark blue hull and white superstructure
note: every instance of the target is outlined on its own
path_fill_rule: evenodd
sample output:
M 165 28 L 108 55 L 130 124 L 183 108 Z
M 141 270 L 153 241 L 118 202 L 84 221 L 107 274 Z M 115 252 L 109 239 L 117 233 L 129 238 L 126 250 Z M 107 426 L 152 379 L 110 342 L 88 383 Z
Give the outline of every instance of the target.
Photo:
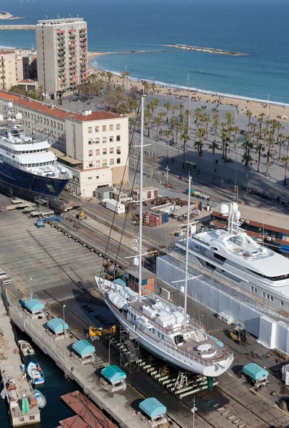
M 9 195 L 34 200 L 35 196 L 58 198 L 72 178 L 49 150 L 48 141 L 39 141 L 14 128 L 0 130 L 0 189 Z

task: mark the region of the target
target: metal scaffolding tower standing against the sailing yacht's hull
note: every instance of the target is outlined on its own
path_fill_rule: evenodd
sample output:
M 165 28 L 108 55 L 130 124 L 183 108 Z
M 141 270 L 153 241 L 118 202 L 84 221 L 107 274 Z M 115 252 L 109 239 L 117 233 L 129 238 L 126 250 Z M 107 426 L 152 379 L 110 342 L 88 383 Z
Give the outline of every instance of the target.
M 120 352 L 121 367 L 125 367 L 128 373 L 138 372 L 140 361 L 140 350 L 137 335 L 129 332 L 125 327 L 120 327 Z

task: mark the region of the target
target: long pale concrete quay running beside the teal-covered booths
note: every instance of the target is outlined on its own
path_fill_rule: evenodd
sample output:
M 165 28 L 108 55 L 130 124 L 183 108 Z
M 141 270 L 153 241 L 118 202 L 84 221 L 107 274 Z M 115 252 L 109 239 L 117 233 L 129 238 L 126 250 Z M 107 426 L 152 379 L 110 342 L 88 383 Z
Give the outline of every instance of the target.
M 11 320 L 20 330 L 26 332 L 31 340 L 56 362 L 66 376 L 75 380 L 85 394 L 95 402 L 100 409 L 104 409 L 122 428 L 144 428 L 146 425 L 136 415 L 133 409 L 133 402 L 142 399 L 138 392 L 128 387 L 126 391 L 111 394 L 103 388 L 99 381 L 96 367 L 93 365 L 81 365 L 76 359 L 71 357 L 73 343 L 77 342 L 76 337 L 69 334 L 65 338 L 54 340 L 46 331 L 46 322 L 49 320 L 47 313 L 41 320 L 32 320 L 29 314 L 21 308 L 9 302 L 9 313 Z M 105 365 L 101 364 L 101 367 Z M 99 367 L 100 368 L 100 367 Z M 19 369 L 20 370 L 20 369 Z

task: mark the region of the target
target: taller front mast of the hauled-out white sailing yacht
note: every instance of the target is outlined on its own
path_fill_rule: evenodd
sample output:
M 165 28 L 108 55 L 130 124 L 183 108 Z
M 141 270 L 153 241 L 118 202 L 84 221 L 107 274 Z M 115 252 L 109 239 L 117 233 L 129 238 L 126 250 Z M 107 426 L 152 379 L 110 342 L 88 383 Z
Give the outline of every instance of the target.
M 138 297 L 141 297 L 142 282 L 142 253 L 143 253 L 143 113 L 145 95 L 141 96 L 141 156 L 140 156 L 140 180 L 139 180 L 139 237 L 138 237 Z

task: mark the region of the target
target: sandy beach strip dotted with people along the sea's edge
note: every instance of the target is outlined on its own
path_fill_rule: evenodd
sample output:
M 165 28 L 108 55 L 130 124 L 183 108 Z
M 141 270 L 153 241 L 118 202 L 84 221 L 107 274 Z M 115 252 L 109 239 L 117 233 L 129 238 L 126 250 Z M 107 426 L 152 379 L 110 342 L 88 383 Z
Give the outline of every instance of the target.
M 100 68 L 95 68 L 91 66 L 91 60 L 92 58 L 102 56 L 102 55 L 109 55 L 110 52 L 88 52 L 88 75 L 91 73 L 103 73 L 103 70 Z M 133 76 L 132 76 L 133 77 Z M 142 81 L 145 81 L 146 79 L 138 79 L 134 80 L 131 78 L 128 78 L 128 89 L 131 86 L 137 86 L 139 89 L 143 89 L 143 83 Z M 115 84 L 116 86 L 122 85 L 122 79 L 120 76 L 113 75 L 113 78 L 111 79 L 112 84 Z M 126 87 L 126 84 L 125 84 Z M 170 91 L 171 90 L 171 91 Z M 156 93 L 158 96 L 166 95 L 170 96 L 171 98 L 180 98 L 180 102 L 185 101 L 188 98 L 184 98 L 188 96 L 188 91 L 185 89 L 179 88 L 177 91 L 174 91 L 174 88 L 171 88 L 171 86 L 159 86 L 156 85 Z M 233 105 L 238 106 L 239 113 L 245 113 L 247 110 L 251 111 L 253 113 L 253 116 L 258 116 L 260 113 L 265 113 L 267 116 L 268 111 L 268 118 L 270 119 L 276 119 L 278 121 L 282 121 L 287 123 L 288 120 L 282 120 L 278 118 L 279 115 L 285 115 L 289 118 L 289 106 L 278 106 L 274 103 L 269 102 L 269 108 L 267 108 L 267 103 L 263 103 L 260 101 L 249 101 L 242 98 L 233 98 L 233 97 L 226 97 L 218 95 L 217 93 L 215 95 L 212 95 L 211 93 L 201 92 L 201 91 L 191 91 L 191 108 L 193 108 L 193 102 L 194 101 L 203 101 L 203 103 L 211 104 L 211 107 L 213 108 L 216 105 L 216 101 L 220 99 L 220 102 L 225 105 Z M 183 97 L 183 98 L 182 98 Z

